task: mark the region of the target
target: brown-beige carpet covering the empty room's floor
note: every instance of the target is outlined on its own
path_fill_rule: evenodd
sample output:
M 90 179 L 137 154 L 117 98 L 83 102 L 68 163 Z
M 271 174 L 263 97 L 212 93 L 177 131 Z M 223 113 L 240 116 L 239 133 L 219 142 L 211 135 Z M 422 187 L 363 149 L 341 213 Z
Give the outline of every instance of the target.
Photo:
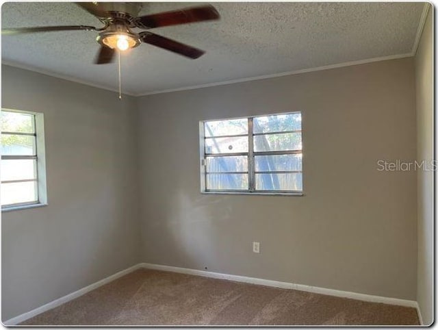
M 21 325 L 418 325 L 413 308 L 136 270 Z

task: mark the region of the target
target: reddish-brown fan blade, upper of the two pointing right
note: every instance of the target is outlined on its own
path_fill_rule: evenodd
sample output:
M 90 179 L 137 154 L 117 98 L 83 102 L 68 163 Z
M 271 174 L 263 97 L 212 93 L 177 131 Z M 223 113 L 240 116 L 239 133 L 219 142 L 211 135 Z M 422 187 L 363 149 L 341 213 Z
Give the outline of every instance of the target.
M 219 17 L 218 11 L 212 5 L 203 5 L 201 7 L 140 16 L 135 18 L 133 23 L 136 27 L 142 29 L 152 29 L 153 27 L 211 21 L 219 19 Z

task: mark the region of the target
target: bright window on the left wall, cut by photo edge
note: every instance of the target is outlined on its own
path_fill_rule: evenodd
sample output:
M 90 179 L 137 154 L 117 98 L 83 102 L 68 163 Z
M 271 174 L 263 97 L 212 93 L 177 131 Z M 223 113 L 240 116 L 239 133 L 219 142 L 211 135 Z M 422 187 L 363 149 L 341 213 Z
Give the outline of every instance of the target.
M 43 115 L 1 110 L 1 207 L 47 203 Z

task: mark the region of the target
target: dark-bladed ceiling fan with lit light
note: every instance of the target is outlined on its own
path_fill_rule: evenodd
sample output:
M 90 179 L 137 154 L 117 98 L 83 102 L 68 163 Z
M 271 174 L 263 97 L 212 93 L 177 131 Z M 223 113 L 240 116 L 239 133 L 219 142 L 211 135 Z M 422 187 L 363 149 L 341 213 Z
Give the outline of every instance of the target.
M 95 64 L 110 63 L 114 60 L 116 50 L 125 51 L 137 47 L 142 42 L 195 59 L 203 55 L 205 51 L 153 34 L 150 31 L 136 33 L 132 29 L 149 30 L 155 27 L 217 20 L 220 17 L 212 5 L 201 5 L 194 8 L 137 16 L 142 9 L 142 3 L 77 2 L 76 4 L 99 18 L 99 21 L 104 26 L 101 28 L 86 25 L 18 27 L 2 29 L 1 34 L 13 35 L 69 30 L 99 31 L 99 36 L 97 36 L 96 40 L 101 45 L 101 49 L 96 56 Z

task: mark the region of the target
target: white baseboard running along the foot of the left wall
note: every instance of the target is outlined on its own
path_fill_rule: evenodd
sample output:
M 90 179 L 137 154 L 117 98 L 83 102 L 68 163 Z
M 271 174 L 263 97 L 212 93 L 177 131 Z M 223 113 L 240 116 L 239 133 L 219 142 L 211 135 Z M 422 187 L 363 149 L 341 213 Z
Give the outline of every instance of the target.
M 91 290 L 99 288 L 99 286 L 102 286 L 106 283 L 114 281 L 114 279 L 118 279 L 119 277 L 122 277 L 123 275 L 127 275 L 127 274 L 129 274 L 129 272 L 133 272 L 134 270 L 137 270 L 139 268 L 142 268 L 142 264 L 136 264 L 136 265 L 131 266 L 125 270 L 121 270 L 120 272 L 116 272 L 116 274 L 110 275 L 109 277 L 106 277 L 105 279 L 101 279 L 100 281 L 92 283 L 92 284 L 86 286 L 85 288 L 81 288 L 75 292 L 67 294 L 66 296 L 62 296 L 61 298 L 55 299 L 54 301 L 51 301 L 50 303 L 42 305 L 36 309 L 32 309 L 30 312 L 26 312 L 26 313 L 23 313 L 21 315 L 15 316 L 14 318 L 10 318 L 9 320 L 2 321 L 2 323 L 5 326 L 18 325 L 18 323 L 21 323 L 29 318 L 33 318 L 34 316 L 41 314 L 42 312 L 46 312 L 49 309 L 55 308 L 59 305 L 62 305 L 63 303 L 67 303 L 68 301 L 71 301 L 71 300 L 77 298 L 78 296 L 82 296 L 83 294 L 86 294 L 87 292 L 90 292 Z

